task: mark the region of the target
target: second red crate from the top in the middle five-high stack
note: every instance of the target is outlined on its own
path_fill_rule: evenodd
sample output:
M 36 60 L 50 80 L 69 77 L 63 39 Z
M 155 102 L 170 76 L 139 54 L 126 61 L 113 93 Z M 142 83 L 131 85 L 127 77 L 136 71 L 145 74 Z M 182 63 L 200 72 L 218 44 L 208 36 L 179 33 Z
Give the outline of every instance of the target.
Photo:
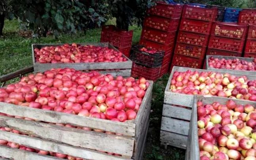
M 180 30 L 199 34 L 210 34 L 211 26 L 212 22 L 204 22 L 185 18 L 182 18 L 180 22 Z

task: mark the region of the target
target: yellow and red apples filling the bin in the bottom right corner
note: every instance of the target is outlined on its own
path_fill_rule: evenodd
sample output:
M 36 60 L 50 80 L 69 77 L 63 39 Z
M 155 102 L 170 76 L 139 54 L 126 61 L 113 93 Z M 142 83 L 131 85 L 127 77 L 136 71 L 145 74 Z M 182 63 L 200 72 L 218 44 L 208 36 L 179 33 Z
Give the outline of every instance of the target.
M 197 102 L 200 160 L 256 160 L 256 109 Z

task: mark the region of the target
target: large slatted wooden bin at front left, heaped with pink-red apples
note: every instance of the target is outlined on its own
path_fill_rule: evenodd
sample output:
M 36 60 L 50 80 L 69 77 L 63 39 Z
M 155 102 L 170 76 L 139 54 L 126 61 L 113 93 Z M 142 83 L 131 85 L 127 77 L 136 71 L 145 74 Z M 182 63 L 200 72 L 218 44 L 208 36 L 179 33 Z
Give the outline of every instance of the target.
M 12 77 L 18 77 L 19 74 L 22 75 L 21 72 L 27 73 L 29 69 L 23 69 L 11 73 L 10 75 Z M 4 78 L 1 77 L 0 80 L 3 82 L 4 80 L 6 81 L 10 79 L 5 76 Z M 10 127 L 25 134 L 35 135 L 35 137 L 30 137 L 0 131 L 0 139 L 16 142 L 30 148 L 63 153 L 83 159 L 142 160 L 149 125 L 153 88 L 153 81 L 149 82 L 150 85 L 142 100 L 136 119 L 127 122 L 81 117 L 78 115 L 16 106 L 14 104 L 0 102 L 0 113 L 37 119 L 37 121 L 28 121 L 0 116 L 0 126 Z M 119 135 L 63 127 L 45 122 L 89 127 L 119 133 Z M 122 156 L 112 156 L 99 151 L 117 153 Z M 0 146 L 0 157 L 19 160 L 59 159 L 57 157 L 38 155 L 37 153 L 8 148 L 6 146 Z

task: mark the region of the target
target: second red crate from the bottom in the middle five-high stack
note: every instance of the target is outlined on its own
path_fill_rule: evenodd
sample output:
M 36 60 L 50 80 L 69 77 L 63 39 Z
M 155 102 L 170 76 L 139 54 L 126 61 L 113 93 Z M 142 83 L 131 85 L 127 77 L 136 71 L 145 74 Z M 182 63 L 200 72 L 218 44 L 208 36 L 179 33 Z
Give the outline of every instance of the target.
M 183 43 L 176 43 L 174 54 L 180 54 L 189 57 L 195 58 L 204 58 L 206 53 L 206 47 L 193 46 Z

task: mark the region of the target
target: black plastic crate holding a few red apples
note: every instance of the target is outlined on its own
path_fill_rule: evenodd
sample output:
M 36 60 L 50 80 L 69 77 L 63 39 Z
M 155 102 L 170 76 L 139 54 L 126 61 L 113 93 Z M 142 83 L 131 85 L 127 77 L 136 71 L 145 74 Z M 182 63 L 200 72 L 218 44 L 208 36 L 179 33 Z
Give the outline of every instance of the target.
M 145 47 L 144 45 L 136 45 L 132 47 L 130 59 L 133 62 L 142 64 L 150 68 L 156 68 L 162 65 L 163 56 L 165 51 L 156 51 L 155 53 L 148 53 L 141 51 Z M 146 47 L 145 47 L 146 48 Z M 148 49 L 150 50 L 150 49 Z

